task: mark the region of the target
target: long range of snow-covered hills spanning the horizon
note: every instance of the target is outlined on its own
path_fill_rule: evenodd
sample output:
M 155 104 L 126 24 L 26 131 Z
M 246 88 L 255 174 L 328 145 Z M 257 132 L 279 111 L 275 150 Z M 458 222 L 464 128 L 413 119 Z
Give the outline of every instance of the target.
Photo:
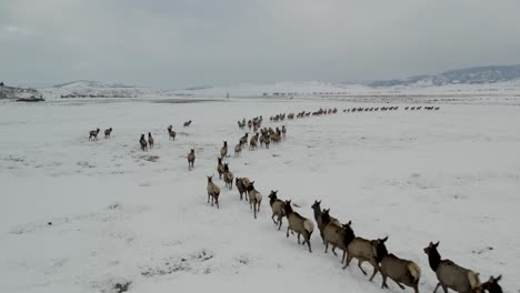
M 286 81 L 272 83 L 239 83 L 227 87 L 192 87 L 164 90 L 99 81 L 74 81 L 39 89 L 44 98 L 241 98 L 282 99 L 337 97 L 402 95 L 501 95 L 520 94 L 520 65 L 481 67 L 448 71 L 436 75 L 418 75 L 404 80 L 371 83 L 331 83 L 322 81 Z

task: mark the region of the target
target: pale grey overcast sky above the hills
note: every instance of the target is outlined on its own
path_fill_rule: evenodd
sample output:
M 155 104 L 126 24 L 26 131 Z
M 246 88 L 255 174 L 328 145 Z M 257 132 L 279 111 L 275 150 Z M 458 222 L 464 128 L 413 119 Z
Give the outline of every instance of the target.
M 160 88 L 520 63 L 519 0 L 0 0 L 0 80 Z

